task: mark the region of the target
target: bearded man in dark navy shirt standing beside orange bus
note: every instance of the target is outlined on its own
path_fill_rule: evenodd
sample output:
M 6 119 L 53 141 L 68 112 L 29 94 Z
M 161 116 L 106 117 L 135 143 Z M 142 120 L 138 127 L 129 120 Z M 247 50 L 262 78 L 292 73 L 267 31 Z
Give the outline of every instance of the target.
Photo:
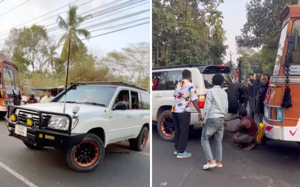
M 255 82 L 251 86 L 251 95 L 250 97 L 252 98 L 251 104 L 250 104 L 250 115 L 254 119 L 255 113 L 258 113 L 258 109 L 256 109 L 256 95 L 259 92 L 261 88 L 264 88 L 264 83 L 261 81 L 261 76 L 259 73 L 256 74 L 255 76 Z

